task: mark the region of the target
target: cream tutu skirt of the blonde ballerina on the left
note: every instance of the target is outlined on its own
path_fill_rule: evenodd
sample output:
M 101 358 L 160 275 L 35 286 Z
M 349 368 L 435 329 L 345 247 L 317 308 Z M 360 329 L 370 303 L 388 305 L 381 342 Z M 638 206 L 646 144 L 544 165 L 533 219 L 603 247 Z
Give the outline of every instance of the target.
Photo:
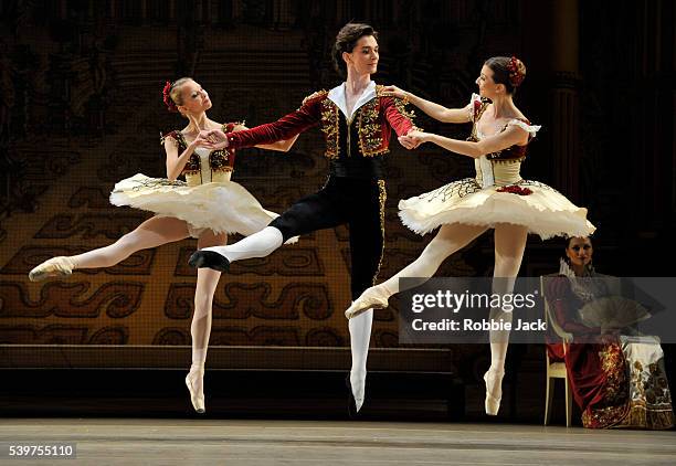
M 141 173 L 115 184 L 110 203 L 184 220 L 192 236 L 199 236 L 205 229 L 251 235 L 278 216 L 263 209 L 256 198 L 234 181 L 189 187 L 183 181 Z

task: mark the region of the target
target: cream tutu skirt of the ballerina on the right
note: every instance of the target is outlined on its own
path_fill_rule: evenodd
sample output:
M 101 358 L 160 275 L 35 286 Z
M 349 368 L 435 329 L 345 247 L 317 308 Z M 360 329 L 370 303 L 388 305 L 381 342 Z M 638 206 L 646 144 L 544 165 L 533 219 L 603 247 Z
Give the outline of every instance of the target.
M 587 209 L 579 208 L 556 189 L 539 181 L 521 180 L 515 191 L 500 187 L 480 188 L 474 178 L 465 178 L 434 191 L 399 202 L 402 222 L 419 234 L 444 224 L 485 225 L 497 223 L 528 226 L 542 240 L 552 236 L 588 236 L 595 226 L 587 220 Z M 530 193 L 526 194 L 526 192 Z

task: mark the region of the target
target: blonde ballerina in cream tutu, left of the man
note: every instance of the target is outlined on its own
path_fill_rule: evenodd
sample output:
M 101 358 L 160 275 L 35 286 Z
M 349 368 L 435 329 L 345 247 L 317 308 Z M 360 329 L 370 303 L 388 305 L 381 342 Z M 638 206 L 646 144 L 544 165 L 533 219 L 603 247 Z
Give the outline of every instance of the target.
M 77 268 L 110 267 L 137 251 L 161 246 L 187 237 L 198 240 L 198 248 L 221 246 L 229 233 L 250 235 L 276 219 L 241 184 L 230 181 L 234 167 L 234 150 L 209 150 L 199 137 L 201 130 L 246 129 L 242 124 L 221 125 L 207 117 L 212 106 L 209 94 L 192 78 L 167 83 L 163 99 L 170 112 L 178 112 L 189 123 L 182 130 L 161 137 L 167 152 L 167 178 L 136 174 L 118 182 L 110 194 L 115 205 L 130 205 L 156 215 L 125 234 L 115 243 L 74 256 L 53 257 L 33 268 L 33 282 L 68 276 Z M 297 136 L 264 149 L 287 151 Z M 183 174 L 186 181 L 177 178 Z M 291 242 L 292 240 L 289 240 Z M 207 347 L 211 333 L 211 306 L 221 273 L 210 268 L 198 271 L 194 290 L 192 366 L 186 377 L 194 410 L 203 413 L 203 375 Z

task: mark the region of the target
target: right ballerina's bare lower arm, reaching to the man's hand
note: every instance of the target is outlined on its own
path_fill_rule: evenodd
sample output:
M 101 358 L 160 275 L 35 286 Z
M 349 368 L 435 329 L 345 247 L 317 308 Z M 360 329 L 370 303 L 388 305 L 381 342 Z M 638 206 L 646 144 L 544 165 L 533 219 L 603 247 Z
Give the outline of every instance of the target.
M 446 138 L 430 133 L 411 131 L 405 136 L 414 147 L 423 142 L 433 142 L 446 150 L 474 159 L 486 153 L 497 152 L 511 146 L 522 146 L 528 142 L 528 131 L 524 128 L 509 125 L 507 129 L 494 136 L 488 136 L 477 142 Z

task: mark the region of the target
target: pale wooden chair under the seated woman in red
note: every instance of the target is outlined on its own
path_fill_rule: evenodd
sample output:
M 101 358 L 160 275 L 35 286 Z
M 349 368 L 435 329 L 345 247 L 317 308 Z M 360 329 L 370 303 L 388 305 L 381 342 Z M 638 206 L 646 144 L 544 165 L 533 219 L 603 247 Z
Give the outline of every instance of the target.
M 547 275 L 547 277 L 552 277 L 554 275 Z M 553 330 L 553 332 L 561 338 L 563 342 L 563 354 L 568 351 L 568 345 L 572 341 L 572 333 L 568 333 L 564 331 L 556 319 L 556 316 L 552 316 L 549 303 L 547 301 L 547 297 L 545 294 L 545 276 L 540 277 L 540 293 L 542 296 L 542 301 L 545 304 L 545 321 L 547 322 L 547 328 Z M 570 381 L 568 380 L 568 371 L 566 370 L 566 362 L 552 362 L 549 359 L 549 353 L 547 352 L 547 348 L 545 348 L 545 359 L 547 361 L 547 389 L 545 391 L 545 425 L 549 424 L 549 420 L 551 417 L 551 405 L 553 402 L 553 388 L 554 380 L 553 379 L 563 379 L 563 383 L 566 384 L 566 426 L 570 427 L 570 421 L 572 416 L 572 390 L 570 388 Z

